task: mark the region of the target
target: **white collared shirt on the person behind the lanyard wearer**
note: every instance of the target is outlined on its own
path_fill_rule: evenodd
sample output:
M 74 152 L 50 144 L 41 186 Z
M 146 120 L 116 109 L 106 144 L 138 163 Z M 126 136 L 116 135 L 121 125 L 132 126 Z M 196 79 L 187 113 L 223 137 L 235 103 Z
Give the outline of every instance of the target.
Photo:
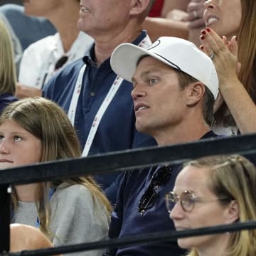
M 92 42 L 93 39 L 90 36 L 80 32 L 67 53 L 63 50 L 59 33 L 32 43 L 23 52 L 18 81 L 22 85 L 41 89 L 55 73 L 55 64 L 61 57 L 68 56 L 63 68 L 73 60 L 82 58 Z

